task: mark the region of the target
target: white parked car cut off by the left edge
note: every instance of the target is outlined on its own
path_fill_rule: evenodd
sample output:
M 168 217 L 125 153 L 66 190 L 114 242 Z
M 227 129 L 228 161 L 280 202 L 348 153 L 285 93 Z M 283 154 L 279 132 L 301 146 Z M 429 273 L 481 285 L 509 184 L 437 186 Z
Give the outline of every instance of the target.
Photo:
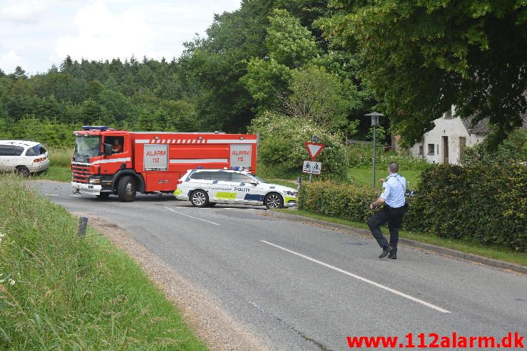
M 27 177 L 48 167 L 48 152 L 38 142 L 0 140 L 0 172 L 16 172 Z

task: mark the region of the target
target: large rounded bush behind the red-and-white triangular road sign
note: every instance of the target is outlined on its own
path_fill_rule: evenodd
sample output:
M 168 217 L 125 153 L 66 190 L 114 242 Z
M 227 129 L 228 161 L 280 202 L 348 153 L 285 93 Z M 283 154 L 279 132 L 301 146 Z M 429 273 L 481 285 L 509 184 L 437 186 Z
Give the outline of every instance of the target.
M 344 179 L 347 162 L 342 135 L 331 134 L 309 120 L 265 112 L 252 120 L 250 132 L 260 134 L 258 158 L 267 169 L 267 177 L 290 177 L 300 174 L 304 160 L 309 159 L 305 141 L 318 135 L 325 144 L 317 157 L 322 162 L 322 176 Z

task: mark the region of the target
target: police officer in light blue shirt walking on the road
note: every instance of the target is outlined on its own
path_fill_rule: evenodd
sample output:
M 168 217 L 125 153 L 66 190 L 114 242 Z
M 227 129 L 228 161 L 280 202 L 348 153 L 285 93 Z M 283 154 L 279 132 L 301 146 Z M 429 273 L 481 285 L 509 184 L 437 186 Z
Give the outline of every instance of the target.
M 389 258 L 397 258 L 397 241 L 399 241 L 399 228 L 401 228 L 402 218 L 404 216 L 404 193 L 406 192 L 406 179 L 399 174 L 399 164 L 392 162 L 388 167 L 387 179 L 381 179 L 382 194 L 379 199 L 369 205 L 370 209 L 384 204 L 381 211 L 368 219 L 369 230 L 382 247 L 382 253 L 379 258 L 388 255 Z M 390 231 L 390 242 L 382 235 L 380 226 L 388 222 Z

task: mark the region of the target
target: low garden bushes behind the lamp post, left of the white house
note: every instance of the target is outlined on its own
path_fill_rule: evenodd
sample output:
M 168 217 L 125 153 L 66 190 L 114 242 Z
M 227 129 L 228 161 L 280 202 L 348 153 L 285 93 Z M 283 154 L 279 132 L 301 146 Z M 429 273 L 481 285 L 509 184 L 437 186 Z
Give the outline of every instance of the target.
M 353 168 L 372 168 L 372 145 L 350 145 L 347 148 L 348 164 Z M 424 159 L 410 155 L 397 154 L 394 151 L 384 152 L 382 147 L 377 147 L 375 162 L 382 169 L 387 168 L 389 162 L 398 162 L 401 171 L 422 171 L 429 167 Z

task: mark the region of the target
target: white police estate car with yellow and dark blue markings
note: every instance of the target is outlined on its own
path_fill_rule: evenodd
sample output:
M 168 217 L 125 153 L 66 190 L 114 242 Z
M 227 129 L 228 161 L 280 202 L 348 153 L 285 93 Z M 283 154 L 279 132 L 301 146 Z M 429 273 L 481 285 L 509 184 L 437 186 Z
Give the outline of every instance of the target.
M 297 206 L 297 189 L 270 184 L 250 173 L 231 169 L 189 169 L 179 179 L 176 199 L 193 206 L 265 205 L 267 209 Z

